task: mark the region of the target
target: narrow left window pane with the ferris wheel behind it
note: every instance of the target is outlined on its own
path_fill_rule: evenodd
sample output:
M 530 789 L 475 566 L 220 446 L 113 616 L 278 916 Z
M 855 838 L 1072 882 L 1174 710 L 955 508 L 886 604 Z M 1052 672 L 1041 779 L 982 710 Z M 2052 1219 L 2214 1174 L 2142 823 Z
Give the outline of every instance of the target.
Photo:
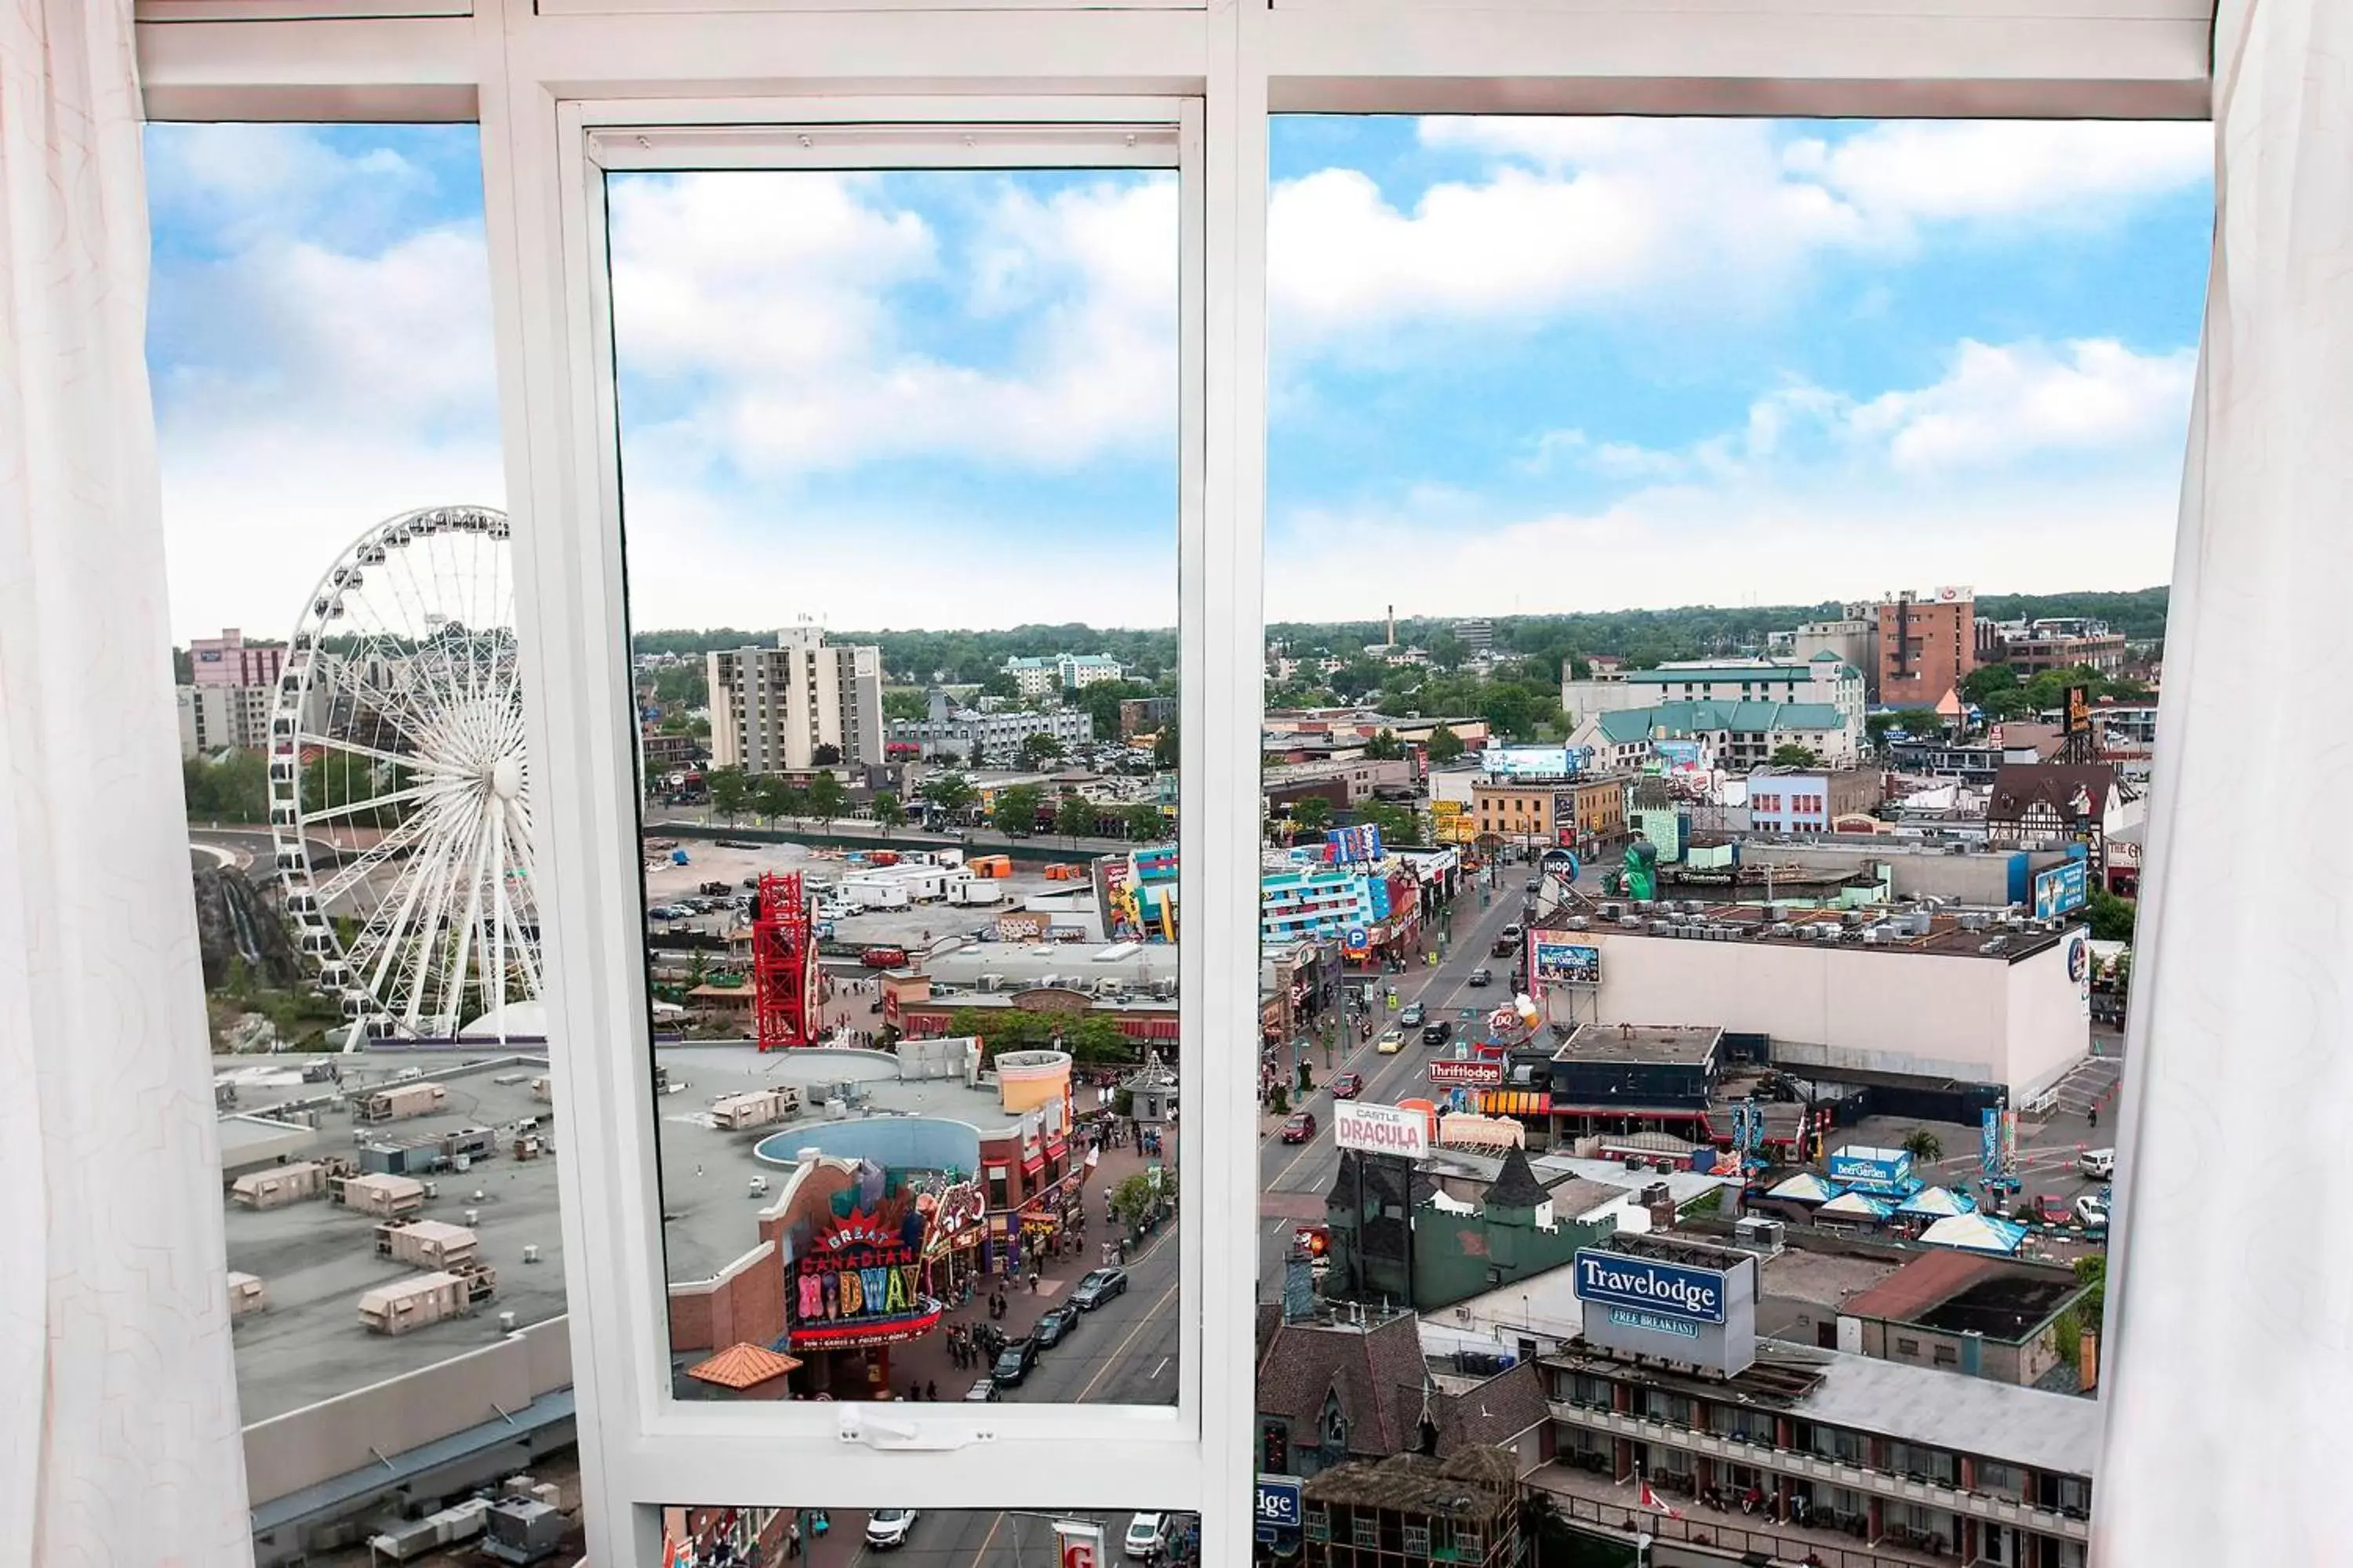
M 146 153 L 226 1288 L 285 1561 L 572 1441 L 546 1039 L 478 1023 L 536 973 L 529 846 L 494 832 L 527 769 L 478 510 L 482 176 L 471 125 L 153 125 Z M 395 538 L 416 508 L 468 510 Z

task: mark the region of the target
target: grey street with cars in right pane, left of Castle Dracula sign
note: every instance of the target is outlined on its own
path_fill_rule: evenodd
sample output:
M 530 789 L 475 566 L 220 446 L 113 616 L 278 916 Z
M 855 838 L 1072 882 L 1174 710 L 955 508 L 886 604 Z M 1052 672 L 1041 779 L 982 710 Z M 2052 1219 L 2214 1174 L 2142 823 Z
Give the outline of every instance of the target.
M 1499 886 L 1485 910 L 1478 903 L 1475 882 L 1466 884 L 1454 898 L 1454 938 L 1447 945 L 1445 961 L 1435 969 L 1407 969 L 1400 976 L 1351 976 L 1346 980 L 1346 985 L 1365 985 L 1367 978 L 1384 987 L 1395 985 L 1398 1011 L 1388 1006 L 1377 1009 L 1372 1039 L 1348 1037 L 1344 1041 L 1346 1048 L 1334 1051 L 1332 1067 L 1325 1065 L 1320 1046 L 1308 1051 L 1315 1091 L 1306 1100 L 1294 1098 L 1292 1110 L 1315 1112 L 1318 1128 L 1311 1143 L 1287 1145 L 1278 1138 L 1282 1117 L 1259 1119 L 1261 1295 L 1280 1288 L 1282 1255 L 1289 1251 L 1292 1229 L 1299 1220 L 1322 1220 L 1322 1194 L 1329 1192 L 1332 1178 L 1339 1173 L 1339 1147 L 1332 1143 L 1332 1079 L 1351 1070 L 1365 1074 L 1365 1093 L 1360 1098 L 1381 1105 L 1435 1098 L 1426 1079 L 1428 1063 L 1440 1053 L 1449 1056 L 1452 1046 L 1424 1046 L 1419 1027 L 1405 1030 L 1405 1048 L 1395 1056 L 1381 1056 L 1374 1051 L 1374 1044 L 1381 1039 L 1381 1030 L 1402 1027 L 1398 1013 L 1414 1001 L 1428 1009 L 1431 1020 L 1454 1020 L 1461 1037 L 1461 1009 L 1468 1006 L 1475 1013 L 1487 1013 L 1511 997 L 1513 959 L 1499 959 L 1489 947 L 1504 926 L 1527 924 L 1522 889 L 1532 877 L 1534 867 L 1529 865 L 1497 867 Z M 1494 985 L 1473 987 L 1473 969 L 1494 971 Z

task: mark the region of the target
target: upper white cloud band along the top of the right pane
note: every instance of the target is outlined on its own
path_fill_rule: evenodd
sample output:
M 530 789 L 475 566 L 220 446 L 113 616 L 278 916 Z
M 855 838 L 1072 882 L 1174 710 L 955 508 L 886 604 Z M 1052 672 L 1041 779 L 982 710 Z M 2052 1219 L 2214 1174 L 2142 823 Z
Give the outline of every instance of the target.
M 1934 122 L 1840 139 L 1762 120 L 1431 118 L 1489 160 L 1391 202 L 1355 169 L 1280 181 L 1268 289 L 1285 341 L 1565 310 L 1741 313 L 1824 254 L 1904 256 L 1929 223 L 2085 226 L 2212 172 L 2200 125 Z

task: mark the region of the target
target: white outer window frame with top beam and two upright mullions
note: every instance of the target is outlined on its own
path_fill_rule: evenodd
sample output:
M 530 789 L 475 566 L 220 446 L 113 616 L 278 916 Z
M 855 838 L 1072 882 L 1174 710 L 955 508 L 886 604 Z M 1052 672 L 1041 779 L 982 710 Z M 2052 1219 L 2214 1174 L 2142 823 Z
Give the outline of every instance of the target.
M 567 764 L 588 788 L 551 792 L 541 865 L 555 877 L 560 929 L 602 929 L 635 907 L 635 858 L 621 863 L 633 811 L 616 795 L 626 745 L 600 693 L 619 689 L 609 538 L 584 520 L 609 496 L 581 454 L 595 449 L 593 378 L 574 374 L 567 327 L 562 129 L 569 106 L 621 101 L 927 96 L 962 103 L 1035 99 L 1195 99 L 1202 155 L 1202 550 L 1181 562 L 1186 614 L 1205 635 L 1186 649 L 1186 943 L 1188 1086 L 1184 1161 L 1242 1194 L 1212 1218 L 1188 1201 L 1188 1345 L 1198 1354 L 1198 1429 L 1056 1460 L 1035 1474 L 1028 1443 L 875 1455 L 762 1443 L 736 1410 L 666 1413 L 633 1387 L 633 1324 L 659 1324 L 664 1281 L 593 1262 L 588 1215 L 647 1166 L 602 1166 L 605 1126 L 635 1126 L 602 1093 L 588 1046 L 558 1044 L 558 1124 L 567 1140 L 562 1225 L 579 1389 L 591 1556 L 652 1563 L 656 1502 L 1141 1507 L 1202 1514 L 1205 1561 L 1249 1556 L 1254 1448 L 1252 1321 L 1257 1140 L 1240 1060 L 1217 1041 L 1252 1041 L 1254 886 L 1209 844 L 1254 849 L 1259 621 L 1266 447 L 1266 197 L 1273 113 L 1652 113 L 1859 118 L 2146 118 L 2209 113 L 2209 0 L 2059 0 L 2021 16 L 2017 0 L 1214 0 L 1052 9 L 993 0 L 146 0 L 139 68 L 158 120 L 346 120 L 482 125 L 501 425 L 525 611 L 532 745 L 541 776 Z M 362 14 L 353 14 L 362 12 Z M 602 12 L 602 14 L 588 14 Z M 904 103 L 901 103 L 904 108 Z M 807 113 L 798 118 L 809 118 Z M 605 550 L 576 574 L 572 548 Z M 593 583 L 591 583 L 593 578 Z M 598 630 L 602 628 L 602 630 Z M 562 646 L 569 661 L 534 656 Z M 584 654 L 584 649 L 588 654 Z M 602 663 L 598 663 L 602 656 Z M 1231 837 L 1228 837 L 1231 835 Z M 574 853 L 576 860 L 565 856 Z M 551 1018 L 640 1006 L 633 966 L 584 973 L 551 954 Z M 602 987 L 602 999 L 600 999 Z M 1226 1018 L 1235 1011 L 1235 1018 Z M 1245 1016 L 1247 1013 L 1247 1016 Z M 1205 1048 L 1193 1048 L 1200 1039 Z M 609 1060 L 609 1058 L 607 1058 Z M 621 1119 L 616 1119 L 621 1117 Z M 1200 1133 L 1231 1126 L 1233 1135 Z M 1195 1143 L 1200 1138 L 1200 1143 Z M 649 1187 L 640 1180 L 640 1194 Z M 633 1269 L 635 1265 L 631 1265 Z M 675 1408 L 673 1408 L 675 1410 Z M 1184 1410 L 1184 1406 L 1179 1406 Z M 1146 1418 L 1151 1413 L 1144 1413 Z M 1089 1413 L 1089 1422 L 1127 1413 Z M 1181 1427 L 1184 1415 L 1167 1425 Z M 1144 1425 L 1151 1425 L 1148 1420 Z M 1151 1453 L 1151 1469 L 1122 1469 Z M 1005 1455 L 1031 1455 L 1028 1472 Z M 1188 1455 L 1188 1458 L 1176 1458 Z M 1016 1474 L 1019 1472 L 1019 1474 Z

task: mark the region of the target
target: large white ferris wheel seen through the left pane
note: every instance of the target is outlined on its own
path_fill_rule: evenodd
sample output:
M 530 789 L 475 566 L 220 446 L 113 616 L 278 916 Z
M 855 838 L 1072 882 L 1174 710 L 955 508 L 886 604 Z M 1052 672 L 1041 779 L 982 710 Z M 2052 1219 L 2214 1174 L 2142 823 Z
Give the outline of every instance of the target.
M 504 1037 L 539 997 L 511 555 L 504 512 L 402 512 L 327 567 L 294 623 L 271 837 L 351 1046 Z

